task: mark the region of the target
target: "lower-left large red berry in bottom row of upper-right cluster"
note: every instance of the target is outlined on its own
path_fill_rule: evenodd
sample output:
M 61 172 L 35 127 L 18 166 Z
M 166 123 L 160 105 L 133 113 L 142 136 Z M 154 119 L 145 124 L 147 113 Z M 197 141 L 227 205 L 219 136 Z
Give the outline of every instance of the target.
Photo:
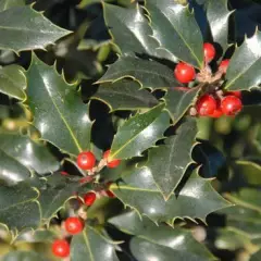
M 217 103 L 213 96 L 203 95 L 196 103 L 197 112 L 200 116 L 209 116 L 216 110 Z

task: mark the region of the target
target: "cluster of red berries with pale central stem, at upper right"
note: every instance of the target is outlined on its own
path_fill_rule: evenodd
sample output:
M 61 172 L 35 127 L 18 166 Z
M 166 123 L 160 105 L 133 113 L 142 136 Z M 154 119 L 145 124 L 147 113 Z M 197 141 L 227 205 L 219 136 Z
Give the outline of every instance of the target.
M 191 115 L 210 117 L 236 115 L 243 109 L 241 92 L 223 91 L 221 88 L 223 83 L 222 76 L 227 71 L 229 60 L 223 60 L 215 75 L 212 75 L 209 63 L 215 58 L 215 48 L 213 45 L 206 42 L 203 45 L 203 52 L 206 66 L 198 75 L 194 66 L 184 62 L 179 62 L 174 71 L 176 79 L 182 84 L 188 84 L 196 78 L 199 83 L 204 83 L 208 86 L 208 88 L 202 89 L 200 97 L 191 110 Z

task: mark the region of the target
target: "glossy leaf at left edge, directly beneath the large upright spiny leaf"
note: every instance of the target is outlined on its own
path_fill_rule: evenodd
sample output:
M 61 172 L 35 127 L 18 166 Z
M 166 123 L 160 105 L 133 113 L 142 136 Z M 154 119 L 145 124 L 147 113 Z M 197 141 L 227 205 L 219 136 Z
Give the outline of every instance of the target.
M 58 160 L 40 141 L 33 141 L 20 134 L 0 134 L 0 149 L 13 160 L 38 174 L 54 172 L 60 167 Z M 22 173 L 23 167 L 21 169 Z M 28 171 L 27 171 L 28 172 Z

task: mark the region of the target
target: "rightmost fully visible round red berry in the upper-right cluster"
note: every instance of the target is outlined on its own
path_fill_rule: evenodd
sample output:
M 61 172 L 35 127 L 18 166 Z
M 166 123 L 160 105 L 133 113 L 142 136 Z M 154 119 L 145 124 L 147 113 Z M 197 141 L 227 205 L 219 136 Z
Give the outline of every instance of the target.
M 236 96 L 226 96 L 221 101 L 221 110 L 225 115 L 233 116 L 241 111 L 241 100 Z

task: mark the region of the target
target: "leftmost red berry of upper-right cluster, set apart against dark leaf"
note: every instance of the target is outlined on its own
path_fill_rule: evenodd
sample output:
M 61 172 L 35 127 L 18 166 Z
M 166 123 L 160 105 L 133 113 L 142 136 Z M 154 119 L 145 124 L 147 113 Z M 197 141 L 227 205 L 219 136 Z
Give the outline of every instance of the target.
M 196 76 L 194 66 L 184 62 L 179 62 L 176 65 L 174 74 L 176 79 L 183 84 L 191 82 Z

